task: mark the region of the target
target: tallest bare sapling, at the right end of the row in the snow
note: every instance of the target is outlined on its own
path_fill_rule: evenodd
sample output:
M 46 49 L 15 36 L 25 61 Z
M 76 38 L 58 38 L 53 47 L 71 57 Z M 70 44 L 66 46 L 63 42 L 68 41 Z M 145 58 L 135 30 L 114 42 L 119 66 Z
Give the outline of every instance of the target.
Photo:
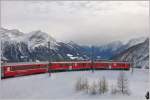
M 129 94 L 128 79 L 125 76 L 124 72 L 121 72 L 118 76 L 117 87 L 118 92 L 122 94 Z

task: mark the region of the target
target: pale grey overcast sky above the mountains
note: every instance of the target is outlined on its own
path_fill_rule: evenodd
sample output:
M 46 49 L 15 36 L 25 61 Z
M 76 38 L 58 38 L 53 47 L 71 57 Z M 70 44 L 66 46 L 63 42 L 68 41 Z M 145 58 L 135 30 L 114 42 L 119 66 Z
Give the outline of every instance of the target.
M 59 41 L 105 44 L 148 36 L 148 1 L 2 1 L 1 24 Z

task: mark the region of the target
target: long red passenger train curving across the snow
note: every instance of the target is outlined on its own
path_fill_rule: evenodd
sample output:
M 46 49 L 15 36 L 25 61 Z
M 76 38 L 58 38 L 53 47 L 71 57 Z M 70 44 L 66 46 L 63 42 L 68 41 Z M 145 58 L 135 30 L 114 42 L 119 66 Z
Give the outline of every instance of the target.
M 15 77 L 22 75 L 31 75 L 38 73 L 75 71 L 75 70 L 129 70 L 129 62 L 117 61 L 70 61 L 70 62 L 22 62 L 22 63 L 5 63 L 1 67 L 1 78 Z

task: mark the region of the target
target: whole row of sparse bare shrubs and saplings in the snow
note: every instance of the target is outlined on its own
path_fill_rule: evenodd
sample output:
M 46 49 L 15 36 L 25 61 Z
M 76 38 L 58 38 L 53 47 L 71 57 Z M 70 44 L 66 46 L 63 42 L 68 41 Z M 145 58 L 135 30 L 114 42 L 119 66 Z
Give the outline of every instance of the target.
M 75 84 L 76 91 L 85 91 L 88 94 L 105 94 L 110 92 L 111 94 L 124 94 L 129 95 L 129 81 L 124 72 L 121 72 L 117 78 L 116 83 L 111 84 L 109 87 L 109 83 L 106 77 L 99 78 L 98 81 L 92 81 L 91 84 L 87 78 L 80 77 L 77 79 Z

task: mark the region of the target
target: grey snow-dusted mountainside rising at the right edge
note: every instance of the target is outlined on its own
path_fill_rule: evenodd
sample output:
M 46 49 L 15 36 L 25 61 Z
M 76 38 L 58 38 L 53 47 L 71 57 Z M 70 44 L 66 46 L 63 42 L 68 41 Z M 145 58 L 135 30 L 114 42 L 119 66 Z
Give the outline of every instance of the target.
M 149 39 L 129 47 L 112 59 L 132 62 L 133 67 L 149 68 Z

